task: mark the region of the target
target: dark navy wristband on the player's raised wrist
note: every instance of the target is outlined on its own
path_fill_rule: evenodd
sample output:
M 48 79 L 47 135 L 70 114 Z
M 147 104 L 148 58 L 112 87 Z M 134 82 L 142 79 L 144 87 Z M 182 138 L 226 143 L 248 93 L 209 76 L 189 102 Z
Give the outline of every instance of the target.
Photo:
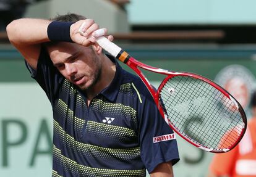
M 63 41 L 73 43 L 70 38 L 70 26 L 74 22 L 57 22 L 49 23 L 47 28 L 47 35 L 50 41 Z

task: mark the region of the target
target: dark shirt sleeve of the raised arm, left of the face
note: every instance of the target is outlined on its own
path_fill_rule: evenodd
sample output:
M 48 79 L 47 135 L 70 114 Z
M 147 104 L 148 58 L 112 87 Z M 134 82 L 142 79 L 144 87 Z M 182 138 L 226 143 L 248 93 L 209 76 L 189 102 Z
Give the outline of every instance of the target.
M 26 61 L 25 65 L 27 66 L 32 78 L 40 84 L 49 101 L 53 104 L 54 98 L 59 91 L 59 86 L 64 78 L 61 73 L 59 73 L 58 69 L 54 67 L 45 47 L 41 47 L 36 70 L 34 70 Z

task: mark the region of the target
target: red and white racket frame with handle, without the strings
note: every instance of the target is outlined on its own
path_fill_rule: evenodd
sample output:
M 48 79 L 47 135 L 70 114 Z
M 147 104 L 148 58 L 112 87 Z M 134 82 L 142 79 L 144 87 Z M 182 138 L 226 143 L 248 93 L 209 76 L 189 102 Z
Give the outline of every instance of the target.
M 160 111 L 160 114 L 164 118 L 166 123 L 168 123 L 169 127 L 171 129 L 173 129 L 177 134 L 179 134 L 179 136 L 181 136 L 187 142 L 189 142 L 190 144 L 194 145 L 195 147 L 203 149 L 207 152 L 221 153 L 221 152 L 228 152 L 229 150 L 233 149 L 241 141 L 242 136 L 244 136 L 244 133 L 245 133 L 246 128 L 247 128 L 247 120 L 246 120 L 245 112 L 242 109 L 239 102 L 237 102 L 236 99 L 233 96 L 231 96 L 231 94 L 228 93 L 228 91 L 221 88 L 221 86 L 219 86 L 218 84 L 214 83 L 213 81 L 211 81 L 207 78 L 204 78 L 203 76 L 196 75 L 194 73 L 171 72 L 169 70 L 164 70 L 164 69 L 161 69 L 161 68 L 151 67 L 150 65 L 143 64 L 142 62 L 139 62 L 138 60 L 134 59 L 134 57 L 130 57 L 129 54 L 127 54 L 127 52 L 125 52 L 121 49 L 121 47 L 112 43 L 111 41 L 106 39 L 104 36 L 96 38 L 96 41 L 99 44 L 99 46 L 101 46 L 101 47 L 103 47 L 103 49 L 105 49 L 105 51 L 109 52 L 109 54 L 116 57 L 116 59 L 120 60 L 124 64 L 128 65 L 130 68 L 132 68 L 132 70 L 134 70 L 135 73 L 137 73 L 137 75 L 143 81 L 143 83 L 147 87 L 148 91 L 150 92 L 151 96 L 153 97 L 153 99 L 155 101 L 155 104 L 157 105 L 158 110 Z M 138 67 L 143 68 L 145 70 L 148 70 L 150 72 L 155 72 L 155 73 L 167 75 L 166 78 L 164 78 L 164 80 L 161 82 L 157 91 L 155 91 L 155 89 L 153 89 L 150 82 L 147 80 L 145 75 L 143 75 L 142 71 L 140 71 Z M 231 101 L 233 101 L 233 103 L 236 105 L 236 108 L 239 109 L 239 112 L 242 115 L 242 120 L 243 120 L 244 126 L 242 127 L 241 133 L 239 134 L 239 138 L 237 138 L 236 142 L 234 142 L 234 144 L 232 144 L 232 146 L 230 146 L 228 149 L 211 149 L 211 148 L 208 148 L 208 147 L 203 146 L 202 144 L 194 141 L 189 136 L 186 136 L 186 134 L 182 134 L 176 128 L 176 126 L 174 126 L 173 123 L 171 123 L 171 121 L 168 119 L 168 115 L 166 115 L 166 113 L 164 112 L 163 107 L 160 104 L 160 93 L 161 93 L 161 89 L 164 87 L 164 84 L 170 78 L 173 78 L 174 76 L 190 76 L 190 77 L 193 77 L 193 78 L 196 78 L 196 79 L 203 80 L 206 83 L 213 86 L 214 88 L 218 89 L 221 93 L 224 94 L 224 96 L 228 97 Z

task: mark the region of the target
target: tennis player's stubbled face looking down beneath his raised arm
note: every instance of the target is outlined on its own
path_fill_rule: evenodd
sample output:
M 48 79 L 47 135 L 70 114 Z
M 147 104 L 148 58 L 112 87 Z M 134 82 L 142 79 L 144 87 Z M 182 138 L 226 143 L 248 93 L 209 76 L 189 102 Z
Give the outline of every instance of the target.
M 54 66 L 80 89 L 90 89 L 100 79 L 101 59 L 92 48 L 61 42 L 47 49 Z

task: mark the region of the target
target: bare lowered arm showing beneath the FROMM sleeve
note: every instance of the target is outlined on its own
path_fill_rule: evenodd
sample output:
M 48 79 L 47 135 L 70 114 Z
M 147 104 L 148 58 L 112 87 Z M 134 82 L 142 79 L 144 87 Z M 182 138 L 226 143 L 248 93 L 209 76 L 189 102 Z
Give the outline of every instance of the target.
M 160 163 L 150 173 L 150 177 L 173 177 L 173 165 L 171 162 Z

